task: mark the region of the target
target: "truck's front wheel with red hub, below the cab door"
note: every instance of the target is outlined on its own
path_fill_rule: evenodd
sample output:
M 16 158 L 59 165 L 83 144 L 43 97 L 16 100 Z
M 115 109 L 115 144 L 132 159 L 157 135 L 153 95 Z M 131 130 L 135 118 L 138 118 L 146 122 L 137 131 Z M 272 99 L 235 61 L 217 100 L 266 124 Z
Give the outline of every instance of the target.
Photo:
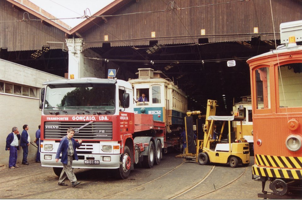
M 117 169 L 116 177 L 118 179 L 126 179 L 130 174 L 131 169 L 131 152 L 129 147 L 125 146 L 124 154 L 120 157 L 120 168 Z

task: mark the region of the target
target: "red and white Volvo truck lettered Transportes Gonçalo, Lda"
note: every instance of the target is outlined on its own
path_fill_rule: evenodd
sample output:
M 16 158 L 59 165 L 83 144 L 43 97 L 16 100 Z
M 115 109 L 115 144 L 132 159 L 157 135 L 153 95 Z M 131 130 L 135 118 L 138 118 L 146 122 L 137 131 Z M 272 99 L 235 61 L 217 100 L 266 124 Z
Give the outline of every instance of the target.
M 116 79 L 80 78 L 49 81 L 41 91 L 41 164 L 60 175 L 55 162 L 60 139 L 69 127 L 81 139 L 74 168 L 114 169 L 125 179 L 134 164 L 159 164 L 165 140 L 165 122 L 153 115 L 134 114 L 133 89 Z M 179 143 L 178 139 L 175 139 Z

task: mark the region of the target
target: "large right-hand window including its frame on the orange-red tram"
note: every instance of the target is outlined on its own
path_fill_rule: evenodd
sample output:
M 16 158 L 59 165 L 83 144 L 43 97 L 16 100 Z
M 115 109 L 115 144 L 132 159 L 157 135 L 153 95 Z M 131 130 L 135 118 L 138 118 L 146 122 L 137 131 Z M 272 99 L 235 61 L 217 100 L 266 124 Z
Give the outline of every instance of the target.
M 277 73 L 276 74 L 276 79 L 277 79 L 276 101 L 277 101 L 277 109 L 279 110 L 279 112 L 287 112 L 290 111 L 292 108 L 302 107 L 302 106 L 296 106 L 296 105 L 302 105 L 302 96 L 301 97 L 297 96 L 302 92 L 302 88 L 300 87 L 302 83 L 302 73 L 301 73 L 302 62 L 280 63 L 282 82 L 280 78 L 280 71 L 278 65 L 276 65 L 276 69 L 277 69 L 276 70 Z M 281 83 L 283 84 L 283 88 L 281 86 Z M 283 89 L 284 89 L 284 95 L 283 95 Z

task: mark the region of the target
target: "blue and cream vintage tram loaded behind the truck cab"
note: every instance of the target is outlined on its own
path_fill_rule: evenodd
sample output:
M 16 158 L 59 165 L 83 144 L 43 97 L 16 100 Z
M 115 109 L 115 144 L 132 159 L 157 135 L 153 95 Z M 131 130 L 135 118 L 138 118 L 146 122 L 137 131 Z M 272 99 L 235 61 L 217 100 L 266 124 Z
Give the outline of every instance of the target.
M 166 137 L 162 143 L 165 152 L 168 147 L 181 149 L 179 133 L 185 126 L 187 96 L 161 71 L 151 68 L 139 68 L 137 79 L 129 79 L 133 96 L 145 94 L 148 101 L 134 102 L 134 114 L 152 114 L 154 121 L 165 122 Z

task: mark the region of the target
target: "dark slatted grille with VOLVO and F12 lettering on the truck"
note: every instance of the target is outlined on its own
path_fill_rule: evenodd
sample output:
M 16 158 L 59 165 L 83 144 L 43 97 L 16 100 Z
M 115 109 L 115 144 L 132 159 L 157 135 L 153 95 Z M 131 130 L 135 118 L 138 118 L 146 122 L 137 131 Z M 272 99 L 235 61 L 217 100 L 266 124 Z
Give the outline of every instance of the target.
M 69 127 L 80 128 L 86 124 L 87 122 L 45 122 L 44 139 L 61 139 L 67 135 Z M 73 138 L 111 140 L 112 122 L 92 122 L 75 133 Z

